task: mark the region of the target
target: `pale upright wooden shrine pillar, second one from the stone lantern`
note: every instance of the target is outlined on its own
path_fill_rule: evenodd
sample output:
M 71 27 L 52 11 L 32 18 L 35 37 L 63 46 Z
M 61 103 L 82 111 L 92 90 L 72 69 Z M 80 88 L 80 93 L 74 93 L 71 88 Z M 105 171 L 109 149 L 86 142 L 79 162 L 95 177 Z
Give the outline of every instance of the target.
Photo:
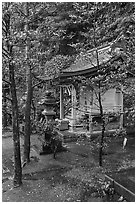
M 72 111 L 71 111 L 71 119 L 72 119 L 72 130 L 75 129 L 76 124 L 76 90 L 72 85 Z

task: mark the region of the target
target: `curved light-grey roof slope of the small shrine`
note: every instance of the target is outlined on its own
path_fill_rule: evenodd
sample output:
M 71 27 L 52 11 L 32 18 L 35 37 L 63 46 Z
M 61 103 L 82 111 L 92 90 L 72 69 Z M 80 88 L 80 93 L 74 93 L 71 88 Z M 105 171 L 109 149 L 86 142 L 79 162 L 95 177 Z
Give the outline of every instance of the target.
M 92 49 L 84 53 L 83 55 L 75 60 L 75 62 L 67 69 L 63 70 L 63 73 L 77 73 L 84 71 L 91 71 L 94 70 L 95 67 L 97 67 L 97 57 L 96 57 L 96 49 Z M 109 61 L 112 58 L 111 54 L 111 46 L 106 45 L 103 47 L 98 48 L 98 60 L 99 65 L 102 65 Z

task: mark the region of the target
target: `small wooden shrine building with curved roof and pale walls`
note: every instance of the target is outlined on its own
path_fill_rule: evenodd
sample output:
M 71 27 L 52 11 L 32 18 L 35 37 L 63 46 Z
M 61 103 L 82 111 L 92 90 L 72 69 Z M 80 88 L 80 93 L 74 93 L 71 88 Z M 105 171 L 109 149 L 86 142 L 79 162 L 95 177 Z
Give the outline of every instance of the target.
M 99 67 L 103 68 L 105 64 L 117 60 L 119 56 L 114 58 L 114 52 L 120 53 L 120 48 L 111 44 L 98 48 Z M 60 119 L 69 120 L 70 126 L 74 128 L 80 125 L 81 119 L 84 115 L 88 116 L 89 130 L 98 130 L 95 125 L 99 121 L 99 107 L 94 89 L 90 86 L 76 85 L 76 77 L 95 77 L 97 75 L 97 57 L 96 50 L 92 49 L 87 54 L 80 57 L 69 68 L 62 71 L 60 74 Z M 116 55 L 115 55 L 116 56 Z M 64 94 L 70 95 L 71 111 L 65 115 Z M 107 90 L 102 96 L 102 105 L 105 113 L 111 115 L 112 127 L 118 128 L 123 126 L 123 94 L 118 88 L 111 88 Z M 119 119 L 113 117 L 114 113 L 120 112 Z M 114 121 L 114 123 L 113 123 Z

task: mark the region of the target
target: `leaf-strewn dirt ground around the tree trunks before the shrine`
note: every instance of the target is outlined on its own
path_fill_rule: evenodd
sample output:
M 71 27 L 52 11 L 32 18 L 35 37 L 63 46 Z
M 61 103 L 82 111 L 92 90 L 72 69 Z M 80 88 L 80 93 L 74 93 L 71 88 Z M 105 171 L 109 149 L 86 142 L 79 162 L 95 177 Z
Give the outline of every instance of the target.
M 13 188 L 11 136 L 7 134 L 2 140 L 3 202 L 103 202 L 101 187 L 105 173 L 128 169 L 135 164 L 134 141 L 130 141 L 125 150 L 121 140 L 109 141 L 103 167 L 99 167 L 97 140 L 66 143 L 67 151 L 58 153 L 55 160 L 51 154 L 39 155 L 34 150 L 36 138 L 33 135 L 31 162 L 23 168 L 23 184 Z

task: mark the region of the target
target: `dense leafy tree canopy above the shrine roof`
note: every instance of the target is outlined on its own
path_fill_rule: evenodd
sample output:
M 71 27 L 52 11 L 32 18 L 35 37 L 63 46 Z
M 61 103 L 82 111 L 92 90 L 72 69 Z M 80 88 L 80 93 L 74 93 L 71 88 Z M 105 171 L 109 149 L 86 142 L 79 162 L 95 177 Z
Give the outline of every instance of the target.
M 135 54 L 133 2 L 29 2 L 28 33 L 24 30 L 26 22 L 24 5 L 20 2 L 12 3 L 10 7 L 13 13 L 11 33 L 12 43 L 15 45 L 14 62 L 16 67 L 19 67 L 17 70 L 19 74 L 24 73 L 26 38 L 29 41 L 29 63 L 35 67 L 35 73 L 43 74 L 45 63 L 56 55 L 72 55 L 79 53 L 83 48 L 86 50 L 93 48 L 95 25 L 96 46 L 122 40 L 126 53 L 130 56 L 128 63 L 126 61 L 126 67 L 133 69 Z M 17 80 L 21 79 L 22 75 Z

